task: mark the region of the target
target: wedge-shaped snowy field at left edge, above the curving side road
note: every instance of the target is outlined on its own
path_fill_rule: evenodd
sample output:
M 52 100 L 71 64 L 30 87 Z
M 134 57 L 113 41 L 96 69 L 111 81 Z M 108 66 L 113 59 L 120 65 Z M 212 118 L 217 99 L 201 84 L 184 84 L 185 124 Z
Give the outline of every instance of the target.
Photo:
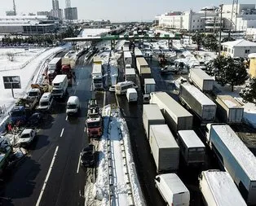
M 0 48 L 0 71 L 20 69 L 46 49 Z

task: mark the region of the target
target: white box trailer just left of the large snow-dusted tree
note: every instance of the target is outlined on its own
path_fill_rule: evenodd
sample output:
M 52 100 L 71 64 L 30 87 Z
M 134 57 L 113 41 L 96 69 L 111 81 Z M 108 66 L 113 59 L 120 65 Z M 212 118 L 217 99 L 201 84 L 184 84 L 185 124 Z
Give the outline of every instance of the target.
M 201 68 L 191 68 L 188 77 L 201 91 L 211 91 L 214 88 L 214 78 Z

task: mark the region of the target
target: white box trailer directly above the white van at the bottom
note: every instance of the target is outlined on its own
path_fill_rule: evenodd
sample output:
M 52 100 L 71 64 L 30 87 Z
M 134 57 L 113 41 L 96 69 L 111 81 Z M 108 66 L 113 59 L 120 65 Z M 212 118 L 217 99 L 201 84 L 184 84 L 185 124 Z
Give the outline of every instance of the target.
M 149 145 L 157 173 L 179 169 L 179 146 L 168 125 L 150 125 Z

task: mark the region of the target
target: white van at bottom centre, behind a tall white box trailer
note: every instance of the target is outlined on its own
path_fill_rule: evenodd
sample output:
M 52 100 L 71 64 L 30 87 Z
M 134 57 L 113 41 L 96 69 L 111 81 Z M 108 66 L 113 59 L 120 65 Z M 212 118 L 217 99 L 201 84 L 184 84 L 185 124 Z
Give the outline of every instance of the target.
M 159 174 L 156 176 L 155 182 L 166 204 L 173 206 L 189 206 L 190 193 L 177 174 Z

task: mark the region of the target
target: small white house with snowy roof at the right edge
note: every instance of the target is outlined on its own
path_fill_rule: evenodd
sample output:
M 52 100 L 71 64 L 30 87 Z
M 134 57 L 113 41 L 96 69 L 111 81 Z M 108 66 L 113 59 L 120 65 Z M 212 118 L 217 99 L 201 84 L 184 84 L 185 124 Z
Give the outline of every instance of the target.
M 256 43 L 245 39 L 239 39 L 233 42 L 223 42 L 223 55 L 231 57 L 246 58 L 250 53 L 256 53 Z

